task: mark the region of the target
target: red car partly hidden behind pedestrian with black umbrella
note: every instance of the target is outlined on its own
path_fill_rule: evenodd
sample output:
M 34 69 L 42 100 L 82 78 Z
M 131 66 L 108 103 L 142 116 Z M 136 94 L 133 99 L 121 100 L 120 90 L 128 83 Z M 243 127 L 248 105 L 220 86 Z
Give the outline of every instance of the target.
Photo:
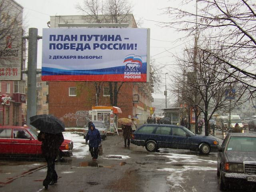
M 27 126 L 0 126 L 0 154 L 2 156 L 42 156 L 38 132 Z M 61 156 L 71 156 L 73 142 L 64 139 Z

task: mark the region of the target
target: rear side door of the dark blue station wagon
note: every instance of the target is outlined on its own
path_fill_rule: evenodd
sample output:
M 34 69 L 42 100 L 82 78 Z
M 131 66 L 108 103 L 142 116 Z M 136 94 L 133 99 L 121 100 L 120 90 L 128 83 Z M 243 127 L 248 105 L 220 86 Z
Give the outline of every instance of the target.
M 155 138 L 159 148 L 171 148 L 172 135 L 170 126 L 158 126 L 155 131 Z

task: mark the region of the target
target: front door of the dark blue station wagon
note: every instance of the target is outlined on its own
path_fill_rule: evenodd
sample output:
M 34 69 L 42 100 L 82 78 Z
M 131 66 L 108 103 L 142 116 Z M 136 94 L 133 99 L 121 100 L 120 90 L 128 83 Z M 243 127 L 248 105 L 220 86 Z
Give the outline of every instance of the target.
M 189 149 L 187 132 L 181 127 L 172 127 L 172 148 Z

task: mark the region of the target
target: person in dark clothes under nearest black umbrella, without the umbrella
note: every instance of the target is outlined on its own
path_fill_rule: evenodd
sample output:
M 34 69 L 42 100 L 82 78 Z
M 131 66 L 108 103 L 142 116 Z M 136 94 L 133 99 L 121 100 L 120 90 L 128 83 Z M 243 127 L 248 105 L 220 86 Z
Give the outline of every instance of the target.
M 60 146 L 64 141 L 64 137 L 62 133 L 50 134 L 41 131 L 37 138 L 39 141 L 42 141 L 42 155 L 47 162 L 47 174 L 43 181 L 43 186 L 47 189 L 49 184 L 53 185 L 58 180 L 58 175 L 55 171 L 55 160 L 60 152 Z

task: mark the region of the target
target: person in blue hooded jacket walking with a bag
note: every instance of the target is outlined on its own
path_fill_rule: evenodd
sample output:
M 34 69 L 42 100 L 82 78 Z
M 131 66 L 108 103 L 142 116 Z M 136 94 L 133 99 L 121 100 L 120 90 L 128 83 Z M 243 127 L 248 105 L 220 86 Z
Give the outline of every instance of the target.
M 101 136 L 99 130 L 95 128 L 93 123 L 90 125 L 90 130 L 86 134 L 86 144 L 88 144 L 88 140 L 89 151 L 92 155 L 92 160 L 96 161 L 98 158 L 98 147 L 101 142 Z

